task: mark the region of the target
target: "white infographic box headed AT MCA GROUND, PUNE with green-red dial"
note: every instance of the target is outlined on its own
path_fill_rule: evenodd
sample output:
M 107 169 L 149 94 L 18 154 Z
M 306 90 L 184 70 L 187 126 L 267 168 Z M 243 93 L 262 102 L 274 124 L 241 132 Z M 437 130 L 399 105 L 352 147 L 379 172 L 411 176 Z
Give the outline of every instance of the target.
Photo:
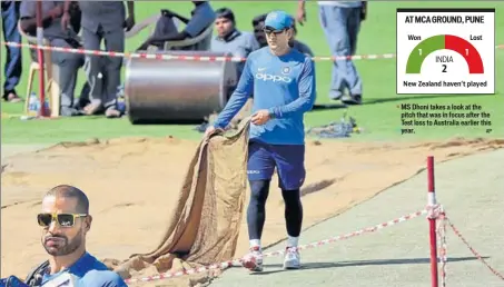
M 397 93 L 495 92 L 495 9 L 397 9 Z

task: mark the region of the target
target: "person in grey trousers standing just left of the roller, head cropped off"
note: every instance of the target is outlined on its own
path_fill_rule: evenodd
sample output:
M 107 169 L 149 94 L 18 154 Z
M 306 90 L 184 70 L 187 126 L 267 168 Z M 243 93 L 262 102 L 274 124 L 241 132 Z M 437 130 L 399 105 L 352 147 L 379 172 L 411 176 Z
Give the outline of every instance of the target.
M 69 0 L 63 1 L 61 29 L 71 23 Z M 125 30 L 135 26 L 135 3 L 127 1 L 128 16 L 123 1 L 79 1 L 83 48 L 100 50 L 101 42 L 109 52 L 123 52 Z M 85 107 L 87 115 L 105 111 L 107 118 L 118 118 L 122 113 L 117 107 L 117 89 L 121 81 L 122 58 L 86 55 L 85 71 L 89 83 L 90 103 Z M 106 79 L 106 80 L 103 80 Z

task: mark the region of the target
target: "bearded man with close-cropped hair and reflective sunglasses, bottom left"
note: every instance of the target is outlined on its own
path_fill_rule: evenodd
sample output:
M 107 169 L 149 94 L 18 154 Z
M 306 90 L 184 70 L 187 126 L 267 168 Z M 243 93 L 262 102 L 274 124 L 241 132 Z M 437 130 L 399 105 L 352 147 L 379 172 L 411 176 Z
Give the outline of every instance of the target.
M 49 260 L 28 278 L 29 286 L 72 278 L 63 286 L 122 287 L 121 277 L 86 251 L 86 235 L 91 228 L 89 200 L 82 190 L 72 186 L 57 186 L 46 194 L 42 211 L 37 216 L 41 227 L 41 243 Z

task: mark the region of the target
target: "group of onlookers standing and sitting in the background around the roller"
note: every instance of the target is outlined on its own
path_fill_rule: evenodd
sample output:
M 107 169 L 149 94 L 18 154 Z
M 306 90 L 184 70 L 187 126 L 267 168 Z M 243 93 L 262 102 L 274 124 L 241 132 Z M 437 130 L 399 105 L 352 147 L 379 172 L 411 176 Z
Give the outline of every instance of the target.
M 138 51 L 190 50 L 229 52 L 246 58 L 250 52 L 267 46 L 263 26 L 268 11 L 254 19 L 236 19 L 228 8 L 215 9 L 209 1 L 191 1 L 190 16 L 180 16 L 162 9 L 156 18 L 149 37 Z M 142 3 L 134 1 L 42 1 L 43 37 L 52 47 L 83 48 L 122 52 L 128 33 L 141 29 L 135 18 L 135 9 Z M 347 57 L 355 53 L 360 22 L 366 18 L 365 1 L 318 1 L 319 22 L 326 34 L 332 56 Z M 169 3 L 167 2 L 167 7 Z M 3 39 L 20 43 L 23 36 L 33 39 L 37 34 L 36 1 L 2 1 Z M 293 16 L 299 24 L 306 20 L 305 2 L 299 1 Z M 142 19 L 140 19 L 141 22 Z M 250 21 L 250 31 L 237 29 L 237 21 Z M 294 49 L 314 56 L 308 44 L 296 39 L 299 27 L 290 41 Z M 29 39 L 28 39 L 29 40 Z M 3 99 L 22 102 L 30 95 L 20 96 L 17 86 L 22 71 L 21 49 L 7 47 Z M 30 57 L 37 61 L 37 52 Z M 120 72 L 123 59 L 79 53 L 51 52 L 52 85 L 60 97 L 60 116 L 105 115 L 108 118 L 122 116 L 126 110 L 119 105 L 121 91 Z M 237 65 L 238 75 L 243 68 Z M 76 87 L 79 69 L 86 73 L 83 87 Z M 344 103 L 362 102 L 363 83 L 352 60 L 335 60 L 328 97 Z

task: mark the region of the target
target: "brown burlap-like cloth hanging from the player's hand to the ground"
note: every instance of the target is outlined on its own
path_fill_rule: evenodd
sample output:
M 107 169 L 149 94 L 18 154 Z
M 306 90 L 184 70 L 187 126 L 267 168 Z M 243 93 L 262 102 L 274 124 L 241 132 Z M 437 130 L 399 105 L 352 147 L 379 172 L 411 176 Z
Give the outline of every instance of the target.
M 109 266 L 130 278 L 233 259 L 247 188 L 248 128 L 245 119 L 236 131 L 202 140 L 174 198 L 178 204 L 159 246 Z

